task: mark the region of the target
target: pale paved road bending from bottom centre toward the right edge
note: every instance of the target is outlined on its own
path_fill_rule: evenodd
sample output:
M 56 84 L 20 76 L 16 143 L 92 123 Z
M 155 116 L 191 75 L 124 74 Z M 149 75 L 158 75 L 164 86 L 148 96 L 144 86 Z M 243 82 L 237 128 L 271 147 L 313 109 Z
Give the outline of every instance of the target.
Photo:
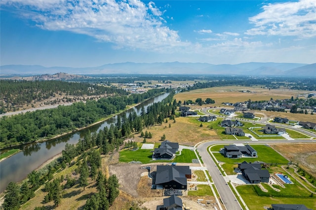
M 315 142 L 315 140 L 291 140 L 291 143 L 306 143 L 306 142 Z M 201 143 L 197 146 L 197 150 L 199 155 L 201 156 L 205 167 L 207 168 L 209 174 L 211 175 L 213 182 L 220 194 L 221 200 L 225 205 L 227 210 L 240 210 L 242 209 L 239 203 L 236 201 L 236 197 L 231 191 L 231 188 L 225 181 L 223 175 L 217 168 L 213 159 L 207 152 L 207 147 L 214 144 L 232 144 L 232 143 L 240 143 L 240 140 L 215 140 L 215 141 L 207 141 Z M 251 144 L 270 144 L 270 143 L 289 143 L 289 141 L 284 140 L 264 140 L 264 141 L 251 141 Z

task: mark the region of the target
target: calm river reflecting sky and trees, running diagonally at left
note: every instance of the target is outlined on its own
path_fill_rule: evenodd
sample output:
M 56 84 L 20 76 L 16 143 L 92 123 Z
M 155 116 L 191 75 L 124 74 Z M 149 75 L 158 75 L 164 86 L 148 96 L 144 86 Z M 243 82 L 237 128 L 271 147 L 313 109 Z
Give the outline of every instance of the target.
M 168 93 L 159 95 L 153 99 L 143 102 L 129 110 L 126 110 L 119 115 L 122 116 L 132 112 L 132 109 L 139 115 L 142 107 L 145 111 L 147 107 L 153 103 L 158 103 L 165 99 Z M 65 148 L 66 143 L 76 144 L 88 131 L 98 132 L 104 127 L 110 127 L 111 124 L 116 123 L 117 116 L 105 120 L 97 125 L 82 129 L 76 133 L 69 134 L 54 140 L 47 140 L 41 143 L 31 143 L 23 145 L 23 151 L 19 152 L 0 162 L 0 192 L 3 192 L 10 181 L 19 182 L 27 177 L 33 170 L 39 168 L 43 163 L 61 153 Z

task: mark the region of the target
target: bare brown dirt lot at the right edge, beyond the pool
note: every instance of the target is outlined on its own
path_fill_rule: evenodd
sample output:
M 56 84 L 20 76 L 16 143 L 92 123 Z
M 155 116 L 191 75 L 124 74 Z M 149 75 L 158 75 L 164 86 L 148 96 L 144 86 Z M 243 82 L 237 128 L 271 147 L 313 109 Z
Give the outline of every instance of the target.
M 316 176 L 316 143 L 271 144 L 272 148 L 299 166 L 306 172 Z

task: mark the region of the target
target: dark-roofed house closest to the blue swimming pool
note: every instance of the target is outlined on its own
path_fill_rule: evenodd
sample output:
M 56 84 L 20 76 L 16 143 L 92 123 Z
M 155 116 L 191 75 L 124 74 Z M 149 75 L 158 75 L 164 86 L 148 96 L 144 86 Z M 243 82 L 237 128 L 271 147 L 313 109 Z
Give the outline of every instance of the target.
M 238 164 L 238 169 L 250 183 L 269 182 L 270 173 L 266 169 L 261 169 L 259 163 L 247 163 L 246 161 Z

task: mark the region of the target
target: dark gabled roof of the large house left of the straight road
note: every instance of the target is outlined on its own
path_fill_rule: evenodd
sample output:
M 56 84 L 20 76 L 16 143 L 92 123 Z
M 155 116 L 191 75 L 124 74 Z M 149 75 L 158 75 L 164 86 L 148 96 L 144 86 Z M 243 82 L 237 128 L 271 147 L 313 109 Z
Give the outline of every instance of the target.
M 182 185 L 187 185 L 186 175 L 191 175 L 189 166 L 157 166 L 155 184 L 162 184 L 169 181 L 176 181 Z

